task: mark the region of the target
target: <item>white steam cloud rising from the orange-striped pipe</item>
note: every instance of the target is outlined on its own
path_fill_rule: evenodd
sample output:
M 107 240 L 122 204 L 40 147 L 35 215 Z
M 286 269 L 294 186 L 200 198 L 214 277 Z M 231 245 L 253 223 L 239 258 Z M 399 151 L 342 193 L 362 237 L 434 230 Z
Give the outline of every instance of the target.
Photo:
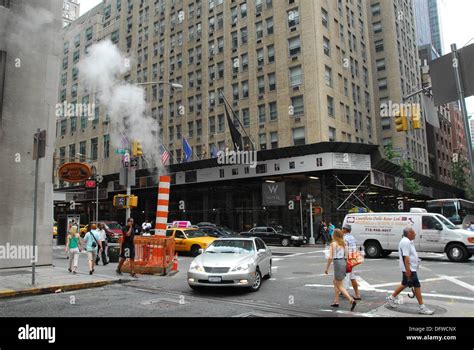
M 79 62 L 79 76 L 85 88 L 96 91 L 101 107 L 110 117 L 111 143 L 126 148 L 123 141 L 140 141 L 147 168 L 165 171 L 159 155 L 159 125 L 148 115 L 143 88 L 123 80 L 131 68 L 130 58 L 124 56 L 110 40 L 89 48 L 89 54 Z

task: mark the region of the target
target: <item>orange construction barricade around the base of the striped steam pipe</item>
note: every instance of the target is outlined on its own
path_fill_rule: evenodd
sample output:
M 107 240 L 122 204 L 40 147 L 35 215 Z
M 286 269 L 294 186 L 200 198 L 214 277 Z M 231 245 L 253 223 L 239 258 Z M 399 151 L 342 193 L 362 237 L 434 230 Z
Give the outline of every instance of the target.
M 135 272 L 145 275 L 165 276 L 173 268 L 175 241 L 173 237 L 135 237 Z M 122 271 L 130 273 L 130 260 L 123 264 Z

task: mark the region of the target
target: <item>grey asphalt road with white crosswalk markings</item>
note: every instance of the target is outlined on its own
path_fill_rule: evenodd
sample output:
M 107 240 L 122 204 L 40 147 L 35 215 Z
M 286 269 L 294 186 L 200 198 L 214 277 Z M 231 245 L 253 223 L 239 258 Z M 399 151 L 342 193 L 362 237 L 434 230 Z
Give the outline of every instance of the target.
M 401 317 L 416 312 L 416 302 L 404 297 L 399 311 L 385 307 L 385 297 L 398 284 L 398 256 L 366 260 L 357 271 L 363 300 L 354 313 L 341 300 L 331 310 L 332 277 L 324 275 L 323 247 L 272 247 L 273 277 L 257 293 L 236 289 L 192 291 L 186 283 L 191 257 L 179 258 L 172 277 L 140 276 L 120 285 L 103 288 L 6 300 L 2 316 L 277 316 L 277 317 Z M 420 254 L 419 270 L 425 303 L 435 316 L 474 317 L 474 260 L 451 263 L 441 254 Z M 54 264 L 66 268 L 62 250 L 54 251 Z M 116 264 L 99 266 L 97 274 L 112 275 Z M 85 257 L 80 270 L 87 271 Z M 100 305 L 100 307 L 97 307 Z M 415 316 L 416 314 L 413 314 Z

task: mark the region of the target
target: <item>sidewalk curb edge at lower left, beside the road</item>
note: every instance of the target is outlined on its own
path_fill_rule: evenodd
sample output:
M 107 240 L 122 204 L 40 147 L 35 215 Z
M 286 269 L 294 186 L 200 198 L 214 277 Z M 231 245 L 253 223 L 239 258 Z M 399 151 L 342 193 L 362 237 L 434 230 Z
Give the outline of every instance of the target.
M 21 290 L 0 290 L 0 300 L 7 299 L 7 298 L 22 297 L 22 296 L 54 294 L 56 293 L 57 290 L 61 290 L 61 292 L 70 292 L 73 290 L 80 290 L 80 289 L 99 288 L 99 287 L 103 287 L 109 284 L 126 283 L 126 282 L 128 282 L 128 280 L 122 280 L 122 279 L 102 280 L 102 281 L 96 281 L 96 282 L 55 285 L 55 286 L 28 288 L 28 289 L 21 289 Z

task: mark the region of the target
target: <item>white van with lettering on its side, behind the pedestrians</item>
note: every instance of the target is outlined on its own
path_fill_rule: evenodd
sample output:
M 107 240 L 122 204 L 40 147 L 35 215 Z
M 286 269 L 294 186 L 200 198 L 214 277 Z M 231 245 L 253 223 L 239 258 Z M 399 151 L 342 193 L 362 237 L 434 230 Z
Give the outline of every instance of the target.
M 365 247 L 368 258 L 387 257 L 397 251 L 405 227 L 414 228 L 419 252 L 446 253 L 454 262 L 467 261 L 474 253 L 474 232 L 457 228 L 441 214 L 348 214 L 344 224 L 352 226 L 352 234 L 357 244 Z

